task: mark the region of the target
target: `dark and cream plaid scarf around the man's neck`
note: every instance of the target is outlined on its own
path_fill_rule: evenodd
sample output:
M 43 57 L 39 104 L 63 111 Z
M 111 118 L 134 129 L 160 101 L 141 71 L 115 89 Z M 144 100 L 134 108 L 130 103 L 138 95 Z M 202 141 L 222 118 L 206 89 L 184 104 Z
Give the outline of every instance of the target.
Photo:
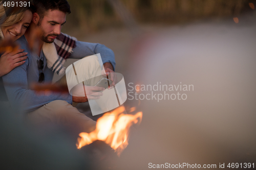
M 66 70 L 63 64 L 70 54 L 73 53 L 76 41 L 76 38 L 61 33 L 54 40 L 54 43 L 44 43 L 42 51 L 46 56 L 48 68 L 58 75 L 63 74 Z

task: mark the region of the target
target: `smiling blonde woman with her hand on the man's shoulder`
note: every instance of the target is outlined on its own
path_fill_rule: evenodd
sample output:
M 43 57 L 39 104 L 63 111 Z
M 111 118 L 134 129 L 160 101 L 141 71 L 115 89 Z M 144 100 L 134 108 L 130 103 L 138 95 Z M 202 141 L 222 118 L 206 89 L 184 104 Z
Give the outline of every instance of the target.
M 0 41 L 9 39 L 15 41 L 22 37 L 32 20 L 32 13 L 34 8 L 30 7 L 28 10 L 19 9 L 19 11 L 12 12 L 0 26 Z M 0 20 L 5 16 L 5 9 L 3 4 L 0 3 Z M 8 74 L 15 67 L 24 64 L 27 56 L 22 53 L 24 50 L 19 49 L 13 52 L 6 51 L 0 57 L 0 77 Z

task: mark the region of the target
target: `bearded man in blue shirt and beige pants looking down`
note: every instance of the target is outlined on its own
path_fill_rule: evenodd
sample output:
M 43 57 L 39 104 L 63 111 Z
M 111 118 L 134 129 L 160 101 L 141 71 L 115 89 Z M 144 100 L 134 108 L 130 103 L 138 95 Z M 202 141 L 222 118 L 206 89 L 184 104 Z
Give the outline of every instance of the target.
M 58 41 L 63 41 L 63 44 L 59 46 L 60 49 L 58 49 L 58 55 L 61 55 L 59 52 L 63 51 L 67 46 L 68 42 L 65 42 L 65 38 L 68 36 L 61 34 L 60 31 L 66 22 L 67 13 L 71 12 L 66 0 L 35 0 L 33 3 L 37 11 L 33 14 L 30 28 L 25 36 L 17 40 L 20 47 L 28 53 L 28 59 L 25 64 L 16 67 L 3 77 L 4 83 L 7 84 L 5 89 L 10 104 L 12 107 L 18 107 L 18 109 L 28 112 L 28 118 L 34 123 L 54 122 L 73 127 L 80 132 L 90 132 L 94 130 L 96 123 L 71 105 L 72 102 L 87 102 L 87 96 L 78 97 L 59 93 L 38 95 L 31 90 L 32 83 L 49 83 L 52 81 L 53 71 L 56 71 L 56 69 L 51 70 L 51 66 L 48 68 L 48 60 L 51 60 L 51 55 L 49 57 L 49 54 L 45 54 L 45 51 L 49 50 L 49 45 L 49 48 L 52 47 L 51 44 L 57 38 Z M 40 35 L 40 40 L 37 43 L 34 43 L 31 38 L 35 30 Z M 58 38 L 58 36 L 62 36 L 62 38 Z M 69 42 L 71 41 L 72 39 L 70 38 Z M 66 46 L 63 47 L 63 45 Z M 29 46 L 33 46 L 35 52 L 31 52 Z M 44 46 L 46 46 L 45 51 Z M 67 49 L 65 48 L 64 50 Z M 71 53 L 72 51 L 73 53 Z M 67 55 L 69 58 L 83 58 L 100 53 L 105 71 L 114 72 L 114 53 L 104 45 L 76 41 L 75 45 L 71 44 L 71 50 L 69 49 L 66 52 L 70 52 Z M 46 55 L 48 55 L 48 59 L 46 59 Z M 14 86 L 8 86 L 9 84 Z M 94 87 L 92 90 L 100 91 L 102 88 Z M 98 99 L 102 93 L 97 92 L 94 95 Z

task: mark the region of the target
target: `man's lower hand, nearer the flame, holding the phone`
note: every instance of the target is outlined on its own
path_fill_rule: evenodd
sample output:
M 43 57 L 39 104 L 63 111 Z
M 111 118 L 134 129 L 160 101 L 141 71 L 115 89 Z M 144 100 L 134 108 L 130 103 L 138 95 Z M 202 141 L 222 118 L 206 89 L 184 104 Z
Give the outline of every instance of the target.
M 72 101 L 76 103 L 88 102 L 89 99 L 97 100 L 103 95 L 103 87 L 83 86 L 78 84 L 72 89 Z

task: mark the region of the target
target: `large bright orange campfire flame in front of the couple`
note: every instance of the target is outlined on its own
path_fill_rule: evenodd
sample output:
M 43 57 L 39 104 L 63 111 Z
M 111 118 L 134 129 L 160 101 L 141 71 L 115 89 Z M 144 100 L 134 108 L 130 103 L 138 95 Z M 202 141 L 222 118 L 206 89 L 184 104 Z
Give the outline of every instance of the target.
M 79 134 L 76 147 L 80 149 L 96 140 L 102 140 L 120 156 L 128 145 L 130 127 L 140 123 L 142 119 L 142 112 L 131 115 L 124 114 L 124 111 L 124 107 L 121 106 L 111 113 L 105 113 L 98 119 L 93 132 Z

